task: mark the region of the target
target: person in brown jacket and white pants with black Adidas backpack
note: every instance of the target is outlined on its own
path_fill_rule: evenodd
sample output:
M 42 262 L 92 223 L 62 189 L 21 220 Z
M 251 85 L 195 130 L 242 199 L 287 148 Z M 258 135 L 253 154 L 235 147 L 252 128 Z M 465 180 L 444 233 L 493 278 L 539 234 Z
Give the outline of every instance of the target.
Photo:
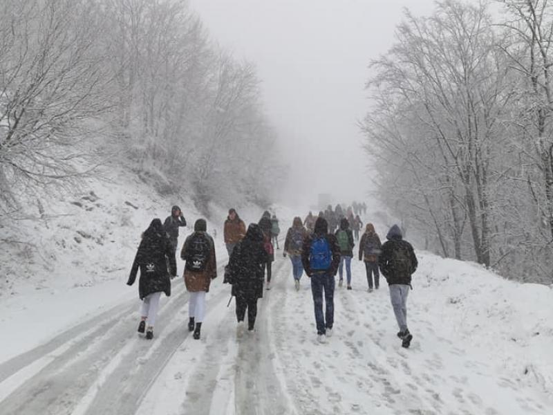
M 190 293 L 188 330 L 194 331 L 194 338 L 198 340 L 205 315 L 205 293 L 209 292 L 212 279 L 217 277 L 215 244 L 207 234 L 204 219 L 194 223 L 194 233 L 187 237 L 180 258 L 186 261 L 184 277 L 186 289 Z

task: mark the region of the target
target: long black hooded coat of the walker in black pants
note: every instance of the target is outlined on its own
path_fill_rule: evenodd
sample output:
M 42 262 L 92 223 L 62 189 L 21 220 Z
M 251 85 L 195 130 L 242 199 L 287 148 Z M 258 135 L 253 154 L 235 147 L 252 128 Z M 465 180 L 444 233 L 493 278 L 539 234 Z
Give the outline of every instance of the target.
M 263 232 L 259 225 L 252 223 L 230 256 L 228 273 L 232 295 L 243 299 L 263 297 L 263 264 L 268 256 L 263 248 Z

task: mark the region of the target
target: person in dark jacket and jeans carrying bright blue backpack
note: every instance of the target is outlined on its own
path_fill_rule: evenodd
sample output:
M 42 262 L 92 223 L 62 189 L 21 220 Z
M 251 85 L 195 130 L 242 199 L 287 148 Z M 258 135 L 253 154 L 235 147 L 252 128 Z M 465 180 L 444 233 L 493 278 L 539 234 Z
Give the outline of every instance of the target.
M 315 231 L 303 242 L 301 262 L 306 274 L 311 278 L 317 340 L 324 343 L 326 338 L 332 336 L 335 275 L 340 263 L 340 247 L 336 237 L 328 233 L 326 219 L 318 218 L 315 222 Z M 323 292 L 326 302 L 324 315 Z

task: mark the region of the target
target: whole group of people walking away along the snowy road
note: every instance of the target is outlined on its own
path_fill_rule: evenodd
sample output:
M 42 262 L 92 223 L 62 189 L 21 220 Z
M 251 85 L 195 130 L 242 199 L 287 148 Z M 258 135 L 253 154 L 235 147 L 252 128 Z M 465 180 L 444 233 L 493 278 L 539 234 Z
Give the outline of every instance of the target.
M 310 212 L 305 220 L 297 216 L 286 233 L 283 256 L 290 257 L 292 277 L 296 290 L 300 288 L 303 272 L 310 277 L 311 291 L 315 308 L 317 339 L 325 342 L 332 335 L 334 325 L 335 276 L 339 275 L 339 286 L 344 282 L 351 286 L 351 261 L 355 241 L 359 235 L 350 229 L 350 223 L 362 225 L 359 214 L 366 209 L 364 203 L 354 203 L 351 208 L 341 206 L 332 211 L 320 212 L 315 218 Z M 356 216 L 353 216 L 358 212 Z M 329 224 L 329 219 L 339 218 L 338 228 Z M 333 222 L 334 223 L 334 222 Z M 171 210 L 165 224 L 154 219 L 142 234 L 142 240 L 135 256 L 131 275 L 127 284 L 135 282 L 140 269 L 139 294 L 142 299 L 138 331 L 146 332 L 146 338 L 153 338 L 153 326 L 161 293 L 171 295 L 170 279 L 177 274 L 176 249 L 178 228 L 186 221 L 178 206 Z M 257 301 L 263 297 L 263 286 L 271 287 L 274 245 L 278 246 L 279 220 L 276 215 L 265 211 L 258 223 L 251 223 L 247 229 L 236 210 L 229 210 L 224 225 L 224 238 L 228 265 L 225 267 L 225 283 L 232 285 L 232 296 L 236 299 L 237 335 L 255 328 Z M 358 231 L 357 231 L 358 233 Z M 368 291 L 379 288 L 379 275 L 382 273 L 390 288 L 391 304 L 400 331 L 397 336 L 403 347 L 409 347 L 413 335 L 406 322 L 406 301 L 411 286 L 411 275 L 418 262 L 413 247 L 404 241 L 402 232 L 393 225 L 382 244 L 375 227 L 367 223 L 359 242 L 359 261 L 364 261 Z M 207 234 L 207 223 L 198 219 L 194 232 L 187 237 L 180 257 L 185 261 L 184 279 L 189 297 L 189 331 L 200 338 L 205 317 L 205 295 L 209 292 L 212 279 L 217 277 L 214 241 Z

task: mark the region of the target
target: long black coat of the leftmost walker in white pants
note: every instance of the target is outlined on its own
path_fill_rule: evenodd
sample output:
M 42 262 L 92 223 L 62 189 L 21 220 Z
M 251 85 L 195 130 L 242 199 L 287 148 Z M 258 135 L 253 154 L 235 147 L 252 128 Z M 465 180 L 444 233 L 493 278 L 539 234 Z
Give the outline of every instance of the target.
M 167 272 L 167 258 L 169 258 L 169 271 L 171 275 L 177 272 L 173 248 L 160 219 L 153 219 L 149 228 L 142 234 L 142 241 L 136 252 L 136 257 L 131 268 L 129 281 L 134 284 L 138 269 L 140 268 L 140 280 L 138 282 L 138 294 L 143 299 L 149 294 L 162 291 L 165 295 L 171 295 L 171 280 Z

